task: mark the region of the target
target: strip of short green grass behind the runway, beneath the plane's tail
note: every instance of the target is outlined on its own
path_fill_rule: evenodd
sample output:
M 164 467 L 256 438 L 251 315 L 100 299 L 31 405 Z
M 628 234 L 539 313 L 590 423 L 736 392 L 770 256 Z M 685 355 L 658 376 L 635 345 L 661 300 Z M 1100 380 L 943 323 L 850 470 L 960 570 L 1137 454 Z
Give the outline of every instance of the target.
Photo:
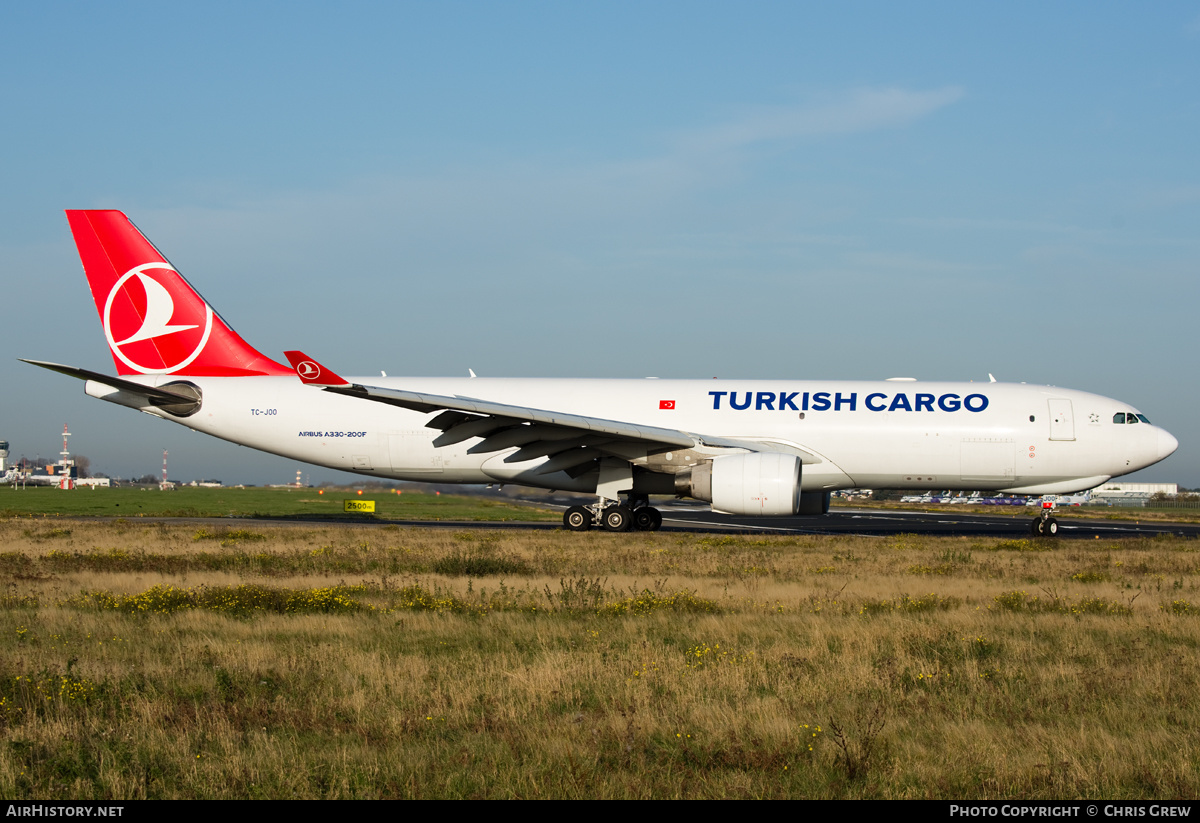
M 558 512 L 514 505 L 502 498 L 433 494 L 406 489 L 356 494 L 318 488 L 157 488 L 0 487 L 0 517 L 313 517 L 361 521 L 344 513 L 343 500 L 374 500 L 373 518 L 400 521 L 558 521 Z

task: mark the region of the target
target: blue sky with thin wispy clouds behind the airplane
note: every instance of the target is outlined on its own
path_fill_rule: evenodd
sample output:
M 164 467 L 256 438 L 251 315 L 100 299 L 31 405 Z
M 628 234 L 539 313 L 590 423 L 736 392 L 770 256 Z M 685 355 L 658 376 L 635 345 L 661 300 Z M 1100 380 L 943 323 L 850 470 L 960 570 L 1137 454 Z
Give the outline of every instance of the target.
M 11 4 L 0 438 L 298 464 L 83 396 L 62 209 L 342 373 L 1050 383 L 1200 486 L 1200 6 Z M 312 480 L 335 473 L 313 468 Z

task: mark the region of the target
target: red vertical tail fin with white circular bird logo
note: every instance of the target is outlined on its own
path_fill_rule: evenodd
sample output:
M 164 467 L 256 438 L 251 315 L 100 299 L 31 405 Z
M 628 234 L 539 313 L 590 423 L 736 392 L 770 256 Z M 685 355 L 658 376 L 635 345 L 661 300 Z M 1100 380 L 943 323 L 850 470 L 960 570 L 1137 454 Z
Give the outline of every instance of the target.
M 238 336 L 120 211 L 67 211 L 118 374 L 292 374 Z

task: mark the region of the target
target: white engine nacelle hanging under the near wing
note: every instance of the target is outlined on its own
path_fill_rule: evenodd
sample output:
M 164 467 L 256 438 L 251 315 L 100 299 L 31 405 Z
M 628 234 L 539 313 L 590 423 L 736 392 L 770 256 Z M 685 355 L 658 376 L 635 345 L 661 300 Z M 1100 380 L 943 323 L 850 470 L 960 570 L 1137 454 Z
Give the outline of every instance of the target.
M 800 458 L 774 451 L 716 457 L 677 474 L 676 493 L 730 515 L 794 515 L 800 507 Z

